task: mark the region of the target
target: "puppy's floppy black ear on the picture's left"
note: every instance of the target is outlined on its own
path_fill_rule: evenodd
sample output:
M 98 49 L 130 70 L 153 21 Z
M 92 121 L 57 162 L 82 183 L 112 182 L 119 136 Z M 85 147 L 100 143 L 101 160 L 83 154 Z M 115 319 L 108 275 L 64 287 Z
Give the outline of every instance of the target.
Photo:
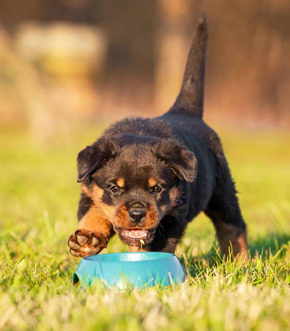
M 113 156 L 115 145 L 112 141 L 98 140 L 79 152 L 77 156 L 77 182 L 84 181 L 96 171 L 106 159 Z

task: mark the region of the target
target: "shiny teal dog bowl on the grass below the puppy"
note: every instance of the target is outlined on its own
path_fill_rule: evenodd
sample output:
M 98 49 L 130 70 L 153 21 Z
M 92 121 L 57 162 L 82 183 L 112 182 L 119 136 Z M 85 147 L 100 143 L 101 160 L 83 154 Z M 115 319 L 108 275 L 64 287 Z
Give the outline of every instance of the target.
M 119 289 L 157 284 L 166 286 L 184 282 L 185 269 L 171 253 L 100 254 L 81 259 L 72 282 L 86 287 L 100 279 L 104 284 Z

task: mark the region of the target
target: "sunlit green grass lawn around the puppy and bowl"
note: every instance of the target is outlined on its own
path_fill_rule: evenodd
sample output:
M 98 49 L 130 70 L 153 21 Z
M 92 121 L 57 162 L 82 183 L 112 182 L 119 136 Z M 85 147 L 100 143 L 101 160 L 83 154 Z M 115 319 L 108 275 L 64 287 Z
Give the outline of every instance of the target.
M 2 131 L 0 330 L 289 330 L 290 135 L 221 134 L 248 225 L 247 265 L 220 260 L 201 214 L 176 252 L 183 285 L 79 291 L 79 259 L 67 247 L 77 226 L 75 158 L 99 134 L 84 128 L 41 143 Z M 126 250 L 114 238 L 104 253 Z

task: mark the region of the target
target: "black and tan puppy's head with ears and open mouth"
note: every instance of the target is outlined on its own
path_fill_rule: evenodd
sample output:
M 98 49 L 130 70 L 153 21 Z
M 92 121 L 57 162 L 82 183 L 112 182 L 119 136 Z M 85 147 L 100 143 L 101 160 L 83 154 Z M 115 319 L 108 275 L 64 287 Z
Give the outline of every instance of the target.
M 171 139 L 123 135 L 100 138 L 77 158 L 78 182 L 120 239 L 149 243 L 179 199 L 179 179 L 193 182 L 196 158 Z

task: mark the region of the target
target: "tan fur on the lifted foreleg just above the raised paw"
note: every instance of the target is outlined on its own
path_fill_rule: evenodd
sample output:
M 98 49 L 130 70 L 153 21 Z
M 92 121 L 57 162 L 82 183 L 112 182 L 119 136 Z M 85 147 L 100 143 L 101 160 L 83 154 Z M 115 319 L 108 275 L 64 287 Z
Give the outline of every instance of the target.
M 112 231 L 112 224 L 101 215 L 97 207 L 93 206 L 79 220 L 78 228 L 92 232 L 100 232 L 106 237 L 109 237 Z

